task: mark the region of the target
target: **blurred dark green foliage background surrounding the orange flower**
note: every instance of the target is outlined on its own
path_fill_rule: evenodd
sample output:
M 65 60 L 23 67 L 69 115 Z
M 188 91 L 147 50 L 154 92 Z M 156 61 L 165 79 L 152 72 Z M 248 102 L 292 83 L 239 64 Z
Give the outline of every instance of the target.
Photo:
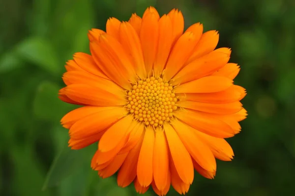
M 69 150 L 59 120 L 74 106 L 57 94 L 65 61 L 89 53 L 89 29 L 149 5 L 160 15 L 179 8 L 186 27 L 219 30 L 218 47 L 232 48 L 235 82 L 248 92 L 249 116 L 228 140 L 235 159 L 218 161 L 214 180 L 196 173 L 187 195 L 295 192 L 294 0 L 0 0 L 0 196 L 137 195 L 91 171 L 95 145 Z

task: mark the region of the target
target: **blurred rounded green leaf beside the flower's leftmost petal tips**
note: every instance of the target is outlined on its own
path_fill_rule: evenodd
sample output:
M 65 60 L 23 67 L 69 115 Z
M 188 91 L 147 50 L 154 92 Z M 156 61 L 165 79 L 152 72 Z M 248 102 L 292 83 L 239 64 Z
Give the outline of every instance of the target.
M 33 102 L 34 114 L 41 119 L 57 122 L 75 106 L 58 98 L 59 86 L 49 81 L 42 82 Z

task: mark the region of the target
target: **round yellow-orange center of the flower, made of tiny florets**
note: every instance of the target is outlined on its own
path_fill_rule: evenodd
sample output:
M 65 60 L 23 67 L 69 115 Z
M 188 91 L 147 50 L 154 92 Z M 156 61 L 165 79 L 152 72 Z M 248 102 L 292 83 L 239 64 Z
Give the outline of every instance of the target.
M 160 77 L 139 80 L 127 96 L 128 111 L 134 114 L 134 119 L 146 125 L 156 127 L 169 122 L 177 109 L 173 87 Z

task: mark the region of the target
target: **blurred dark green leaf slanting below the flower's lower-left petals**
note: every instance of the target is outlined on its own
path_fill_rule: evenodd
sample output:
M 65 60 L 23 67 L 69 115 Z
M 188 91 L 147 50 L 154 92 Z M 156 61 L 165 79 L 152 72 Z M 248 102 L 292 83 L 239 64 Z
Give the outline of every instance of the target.
M 69 147 L 64 149 L 54 159 L 42 190 L 48 187 L 57 186 L 66 177 L 78 173 L 84 164 L 90 165 L 91 154 L 89 148 L 71 150 Z M 90 170 L 90 167 L 89 167 Z

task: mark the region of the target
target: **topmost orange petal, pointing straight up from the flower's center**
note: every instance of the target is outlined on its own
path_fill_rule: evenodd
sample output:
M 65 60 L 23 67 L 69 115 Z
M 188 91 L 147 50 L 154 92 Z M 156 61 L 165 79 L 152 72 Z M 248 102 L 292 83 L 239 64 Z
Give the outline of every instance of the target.
M 141 30 L 140 30 L 140 41 L 142 44 L 146 72 L 151 73 L 152 65 L 155 60 L 158 38 L 159 38 L 159 27 L 158 27 L 159 14 L 154 8 L 148 8 L 143 16 Z

